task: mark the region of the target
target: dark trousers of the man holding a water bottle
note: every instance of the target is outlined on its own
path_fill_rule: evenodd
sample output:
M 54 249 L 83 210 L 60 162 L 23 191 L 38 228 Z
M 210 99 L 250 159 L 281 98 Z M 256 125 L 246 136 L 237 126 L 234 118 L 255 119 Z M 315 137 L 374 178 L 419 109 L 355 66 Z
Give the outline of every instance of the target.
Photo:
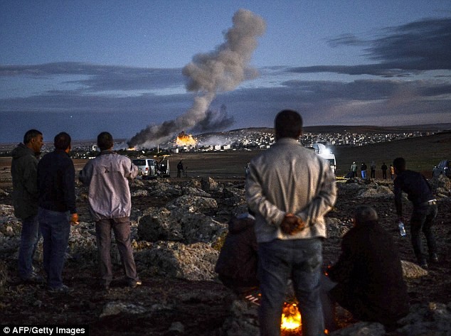
M 420 237 L 421 231 L 425 234 L 429 255 L 437 253 L 435 237 L 431 230 L 435 217 L 437 217 L 437 205 L 413 208 L 412 217 L 410 218 L 410 235 L 412 237 L 413 251 L 420 262 L 424 260 L 423 244 Z

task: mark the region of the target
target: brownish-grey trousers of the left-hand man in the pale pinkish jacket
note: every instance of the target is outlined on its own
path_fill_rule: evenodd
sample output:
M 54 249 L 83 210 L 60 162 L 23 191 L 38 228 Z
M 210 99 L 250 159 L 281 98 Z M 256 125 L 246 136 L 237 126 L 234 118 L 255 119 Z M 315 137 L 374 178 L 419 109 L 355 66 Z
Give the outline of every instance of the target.
M 112 281 L 111 230 L 115 233 L 117 249 L 119 250 L 127 281 L 133 283 L 139 278 L 136 265 L 134 264 L 132 243 L 130 242 L 129 217 L 111 218 L 95 222 L 102 281 L 105 284 L 110 284 Z

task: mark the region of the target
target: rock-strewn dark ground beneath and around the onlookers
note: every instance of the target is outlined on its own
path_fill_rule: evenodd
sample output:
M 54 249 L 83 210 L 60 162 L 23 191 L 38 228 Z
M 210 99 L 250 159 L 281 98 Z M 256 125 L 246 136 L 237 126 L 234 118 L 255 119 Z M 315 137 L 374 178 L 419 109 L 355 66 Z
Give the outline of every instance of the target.
M 451 326 L 451 188 L 446 178 L 431 183 L 439 200 L 434 232 L 441 262 L 431 265 L 428 271 L 411 264 L 409 271 L 405 266 L 414 315 L 404 321 L 404 329 L 388 334 L 376 326 L 365 335 L 449 335 L 444 330 Z M 376 208 L 381 224 L 393 234 L 402 259 L 415 261 L 408 226 L 407 237 L 398 233 L 392 187 L 391 181 L 381 180 L 339 183 L 336 207 L 327 215 L 329 238 L 324 244 L 324 266 L 336 261 L 340 237 L 351 227 L 354 208 L 361 204 Z M 86 190 L 79 187 L 80 225 L 72 229 L 63 273 L 65 283 L 74 291 L 63 295 L 48 293 L 44 286 L 18 281 L 20 222 L 12 212 L 11 187 L 3 187 L 0 190 L 0 324 L 89 325 L 90 335 L 112 336 L 258 335 L 255 307 L 235 300 L 213 272 L 226 223 L 235 213 L 245 210 L 243 188 L 243 178 L 134 182 L 132 236 L 143 284 L 135 289 L 125 286 L 119 257 L 114 252 L 116 279 L 107 292 L 97 286 L 94 225 L 87 212 Z M 407 201 L 405 209 L 411 210 Z M 36 268 L 41 271 L 40 258 L 38 255 Z M 339 323 L 349 331 L 341 330 L 333 335 L 357 335 L 349 328 L 368 327 L 346 318 Z M 422 326 L 413 327 L 415 323 Z

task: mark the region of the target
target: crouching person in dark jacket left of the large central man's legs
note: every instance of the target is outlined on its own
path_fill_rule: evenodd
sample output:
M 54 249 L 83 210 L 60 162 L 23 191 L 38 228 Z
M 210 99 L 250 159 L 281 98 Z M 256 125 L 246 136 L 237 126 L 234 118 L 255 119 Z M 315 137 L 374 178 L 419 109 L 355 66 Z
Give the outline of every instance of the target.
M 241 295 L 258 287 L 258 245 L 255 218 L 244 213 L 228 223 L 228 235 L 216 262 L 215 271 L 224 286 Z

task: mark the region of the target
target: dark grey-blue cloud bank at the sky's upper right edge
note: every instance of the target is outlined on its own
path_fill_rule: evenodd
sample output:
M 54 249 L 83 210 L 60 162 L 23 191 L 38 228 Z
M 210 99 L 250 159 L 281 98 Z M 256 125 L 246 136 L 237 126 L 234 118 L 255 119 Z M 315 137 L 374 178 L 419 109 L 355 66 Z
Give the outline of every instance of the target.
M 364 46 L 366 57 L 378 63 L 292 67 L 291 71 L 403 77 L 426 70 L 451 70 L 451 18 L 423 19 L 386 28 L 382 36 L 369 40 L 350 34 L 342 35 L 330 39 L 329 45 L 334 48 L 341 45 Z

